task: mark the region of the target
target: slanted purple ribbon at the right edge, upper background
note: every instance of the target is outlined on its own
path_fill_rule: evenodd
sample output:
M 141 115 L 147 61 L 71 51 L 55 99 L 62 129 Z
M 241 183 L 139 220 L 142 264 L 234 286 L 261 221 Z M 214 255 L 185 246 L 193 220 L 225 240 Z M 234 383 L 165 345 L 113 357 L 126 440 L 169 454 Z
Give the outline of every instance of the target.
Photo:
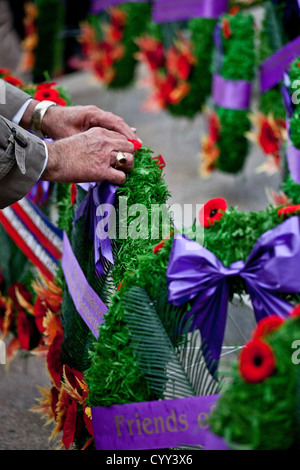
M 285 70 L 290 63 L 300 55 L 300 36 L 275 52 L 265 60 L 260 66 L 260 87 L 261 92 L 273 88 L 281 82 Z

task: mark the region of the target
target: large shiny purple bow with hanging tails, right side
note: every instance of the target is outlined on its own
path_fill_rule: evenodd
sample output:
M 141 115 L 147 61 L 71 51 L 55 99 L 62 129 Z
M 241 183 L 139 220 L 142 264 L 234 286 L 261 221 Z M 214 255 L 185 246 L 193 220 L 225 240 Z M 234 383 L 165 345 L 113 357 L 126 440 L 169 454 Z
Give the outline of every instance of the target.
M 224 339 L 227 281 L 233 276 L 244 280 L 257 321 L 272 314 L 285 317 L 293 306 L 278 294 L 300 292 L 300 218 L 291 217 L 265 232 L 246 262 L 228 268 L 196 242 L 183 236 L 174 239 L 167 269 L 168 300 L 173 305 L 194 300 L 187 316 L 191 328 L 200 329 L 208 359 L 215 363 Z

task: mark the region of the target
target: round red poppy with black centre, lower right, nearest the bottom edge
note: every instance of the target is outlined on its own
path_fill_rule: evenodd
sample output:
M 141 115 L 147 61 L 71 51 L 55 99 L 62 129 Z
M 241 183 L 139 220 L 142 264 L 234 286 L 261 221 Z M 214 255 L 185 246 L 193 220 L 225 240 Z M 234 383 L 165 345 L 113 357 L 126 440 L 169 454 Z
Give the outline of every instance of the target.
M 270 377 L 275 370 L 271 347 L 261 339 L 253 339 L 242 350 L 239 370 L 246 382 L 255 384 Z

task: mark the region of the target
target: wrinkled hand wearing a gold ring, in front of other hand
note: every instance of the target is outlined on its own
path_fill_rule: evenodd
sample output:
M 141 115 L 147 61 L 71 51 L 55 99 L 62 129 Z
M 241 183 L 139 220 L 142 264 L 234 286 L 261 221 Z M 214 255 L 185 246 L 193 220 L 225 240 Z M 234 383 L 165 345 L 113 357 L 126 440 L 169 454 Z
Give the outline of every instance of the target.
M 120 185 L 133 168 L 134 145 L 124 135 L 100 127 L 46 145 L 49 158 L 43 180 L 58 183 L 107 180 Z M 118 152 L 123 152 L 127 159 L 122 169 L 116 168 Z

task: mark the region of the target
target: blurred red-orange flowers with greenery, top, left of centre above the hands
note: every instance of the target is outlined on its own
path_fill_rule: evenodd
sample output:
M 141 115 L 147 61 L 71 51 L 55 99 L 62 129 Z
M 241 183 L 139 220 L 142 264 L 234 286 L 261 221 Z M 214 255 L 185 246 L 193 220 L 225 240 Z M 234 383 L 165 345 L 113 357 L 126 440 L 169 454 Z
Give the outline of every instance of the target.
M 130 85 L 137 63 L 135 38 L 144 31 L 149 15 L 148 4 L 126 3 L 109 8 L 107 20 L 97 16 L 84 22 L 78 39 L 84 59 L 77 66 L 92 70 L 108 87 Z

